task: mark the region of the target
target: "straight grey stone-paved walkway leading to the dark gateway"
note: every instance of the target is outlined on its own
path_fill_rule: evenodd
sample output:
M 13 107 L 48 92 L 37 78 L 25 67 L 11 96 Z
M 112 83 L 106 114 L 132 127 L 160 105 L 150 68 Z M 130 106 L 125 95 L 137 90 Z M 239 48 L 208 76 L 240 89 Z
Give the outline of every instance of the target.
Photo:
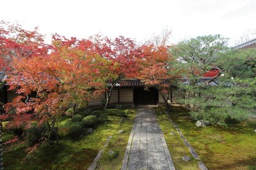
M 137 110 L 121 169 L 175 169 L 156 114 L 146 106 Z

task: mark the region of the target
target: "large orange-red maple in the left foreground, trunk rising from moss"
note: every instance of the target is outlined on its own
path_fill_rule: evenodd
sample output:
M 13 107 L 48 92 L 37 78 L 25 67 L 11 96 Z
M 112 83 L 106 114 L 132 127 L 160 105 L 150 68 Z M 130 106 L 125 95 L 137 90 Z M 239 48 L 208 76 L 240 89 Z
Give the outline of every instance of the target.
M 38 125 L 47 123 L 48 141 L 55 136 L 58 142 L 55 123 L 63 111 L 86 106 L 90 98 L 105 91 L 110 78 L 107 68 L 112 62 L 95 53 L 93 47 L 90 40 L 54 35 L 49 53 L 14 58 L 6 81 L 18 96 L 6 105 L 9 114 L 15 108 L 9 126 L 25 124 L 28 128 L 32 120 Z

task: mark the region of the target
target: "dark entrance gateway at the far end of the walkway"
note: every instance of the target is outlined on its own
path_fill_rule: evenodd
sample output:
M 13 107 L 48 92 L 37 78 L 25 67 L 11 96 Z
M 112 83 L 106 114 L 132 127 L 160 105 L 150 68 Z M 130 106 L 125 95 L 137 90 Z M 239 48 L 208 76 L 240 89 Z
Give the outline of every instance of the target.
M 134 89 L 134 104 L 135 105 L 156 105 L 158 103 L 158 90 L 154 88 L 149 88 L 149 90 L 144 90 L 144 88 Z

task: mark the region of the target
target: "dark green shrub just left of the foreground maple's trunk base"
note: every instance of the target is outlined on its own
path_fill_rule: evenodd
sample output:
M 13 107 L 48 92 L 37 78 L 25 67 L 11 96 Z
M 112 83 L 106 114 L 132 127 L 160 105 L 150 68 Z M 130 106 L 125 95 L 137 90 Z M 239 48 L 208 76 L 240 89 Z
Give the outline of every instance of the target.
M 31 128 L 26 130 L 26 143 L 29 146 L 33 146 L 39 142 L 41 137 L 44 136 L 44 133 L 47 131 L 47 127 L 42 125 L 41 127 L 37 127 L 37 125 L 33 125 Z

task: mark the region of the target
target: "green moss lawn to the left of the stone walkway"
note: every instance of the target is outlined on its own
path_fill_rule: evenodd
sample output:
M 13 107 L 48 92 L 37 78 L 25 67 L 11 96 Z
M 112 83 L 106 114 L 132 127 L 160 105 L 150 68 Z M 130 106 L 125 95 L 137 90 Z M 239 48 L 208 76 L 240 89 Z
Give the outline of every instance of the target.
M 126 117 L 122 118 L 109 115 L 104 123 L 95 127 L 95 132 L 78 140 L 70 137 L 60 137 L 60 145 L 42 145 L 38 152 L 26 157 L 25 144 L 4 147 L 4 169 L 87 169 L 95 159 L 100 149 L 104 149 L 102 157 L 98 162 L 97 169 L 119 169 L 127 146 L 129 133 L 132 129 L 136 111 L 125 110 Z M 63 125 L 67 120 L 62 120 Z M 124 130 L 119 135 L 118 131 Z M 13 135 L 3 133 L 3 141 L 11 139 Z M 112 136 L 110 144 L 104 147 L 107 137 Z M 114 156 L 107 152 L 114 150 Z

